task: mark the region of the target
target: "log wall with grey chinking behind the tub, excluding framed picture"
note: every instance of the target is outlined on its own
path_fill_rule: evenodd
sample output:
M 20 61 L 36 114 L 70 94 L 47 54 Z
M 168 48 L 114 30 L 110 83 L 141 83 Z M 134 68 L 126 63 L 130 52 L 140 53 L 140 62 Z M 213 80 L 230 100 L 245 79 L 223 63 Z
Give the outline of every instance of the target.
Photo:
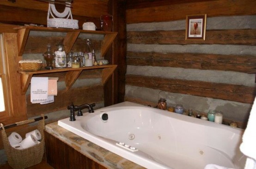
M 215 109 L 246 124 L 256 96 L 255 7 L 252 0 L 128 1 L 125 100 L 166 97 L 167 106 Z M 196 14 L 207 14 L 206 39 L 186 41 L 186 15 Z

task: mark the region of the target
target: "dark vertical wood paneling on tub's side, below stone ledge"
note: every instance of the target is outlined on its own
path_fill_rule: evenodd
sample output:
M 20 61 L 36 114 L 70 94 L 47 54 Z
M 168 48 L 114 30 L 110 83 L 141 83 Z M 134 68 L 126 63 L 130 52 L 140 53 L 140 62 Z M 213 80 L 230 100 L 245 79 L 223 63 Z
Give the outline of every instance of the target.
M 47 162 L 54 169 L 107 169 L 53 135 L 44 132 Z

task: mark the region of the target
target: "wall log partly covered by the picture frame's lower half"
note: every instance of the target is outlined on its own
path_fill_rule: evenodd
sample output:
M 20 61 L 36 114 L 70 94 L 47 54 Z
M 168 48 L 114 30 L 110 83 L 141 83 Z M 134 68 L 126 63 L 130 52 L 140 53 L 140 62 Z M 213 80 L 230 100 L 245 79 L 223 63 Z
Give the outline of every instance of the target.
M 185 29 L 185 27 L 184 27 Z M 207 30 L 205 41 L 185 41 L 185 30 L 127 32 L 127 42 L 136 44 L 256 45 L 256 29 Z

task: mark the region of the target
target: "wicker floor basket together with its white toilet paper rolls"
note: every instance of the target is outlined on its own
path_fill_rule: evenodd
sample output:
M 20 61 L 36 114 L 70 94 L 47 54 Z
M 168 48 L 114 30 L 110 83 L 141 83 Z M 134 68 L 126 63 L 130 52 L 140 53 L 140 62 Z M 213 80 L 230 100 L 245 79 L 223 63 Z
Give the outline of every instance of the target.
M 22 138 L 18 133 L 6 134 L 3 124 L 2 140 L 9 165 L 13 169 L 25 169 L 42 161 L 44 154 L 44 116 L 37 124 L 37 129 Z

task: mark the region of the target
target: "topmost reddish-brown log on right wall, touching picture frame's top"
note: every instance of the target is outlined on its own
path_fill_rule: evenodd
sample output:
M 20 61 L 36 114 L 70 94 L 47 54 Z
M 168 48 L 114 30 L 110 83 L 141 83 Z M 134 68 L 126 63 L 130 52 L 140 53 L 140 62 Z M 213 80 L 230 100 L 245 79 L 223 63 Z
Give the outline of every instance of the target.
M 204 13 L 207 17 L 255 15 L 255 8 L 255 0 L 211 0 L 152 7 L 147 7 L 145 3 L 144 8 L 128 9 L 126 19 L 127 23 L 142 23 L 182 20 L 186 19 L 186 15 Z

